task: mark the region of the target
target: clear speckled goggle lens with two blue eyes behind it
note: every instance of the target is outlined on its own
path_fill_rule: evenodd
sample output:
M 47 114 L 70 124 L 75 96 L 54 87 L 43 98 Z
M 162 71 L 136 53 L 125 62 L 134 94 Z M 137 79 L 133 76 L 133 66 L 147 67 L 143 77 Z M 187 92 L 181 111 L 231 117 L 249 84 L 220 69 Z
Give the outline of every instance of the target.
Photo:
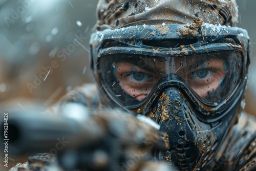
M 172 75 L 202 102 L 218 105 L 241 81 L 242 54 L 209 52 L 184 57 L 115 54 L 100 58 L 99 73 L 108 93 L 128 108 L 137 107 Z

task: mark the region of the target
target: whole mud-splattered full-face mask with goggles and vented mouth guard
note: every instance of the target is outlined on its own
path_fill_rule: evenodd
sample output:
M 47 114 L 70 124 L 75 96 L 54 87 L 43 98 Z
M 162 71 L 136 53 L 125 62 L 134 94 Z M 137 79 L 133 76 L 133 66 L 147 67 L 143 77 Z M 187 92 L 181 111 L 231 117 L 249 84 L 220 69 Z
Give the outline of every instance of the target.
M 92 68 L 105 103 L 154 119 L 169 135 L 165 155 L 201 168 L 240 108 L 248 42 L 244 29 L 201 20 L 108 29 L 92 34 Z

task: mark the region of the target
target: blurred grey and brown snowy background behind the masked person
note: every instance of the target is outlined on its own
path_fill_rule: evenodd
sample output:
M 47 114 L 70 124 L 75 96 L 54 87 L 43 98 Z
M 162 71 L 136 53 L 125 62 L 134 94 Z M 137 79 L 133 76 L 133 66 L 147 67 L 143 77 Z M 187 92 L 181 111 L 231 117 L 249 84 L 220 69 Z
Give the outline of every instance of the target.
M 96 0 L 0 0 L 0 104 L 47 107 L 92 82 L 89 39 Z M 255 0 L 237 0 L 239 24 L 251 38 L 246 112 L 256 115 Z M 50 73 L 48 71 L 51 70 Z M 36 101 L 37 99 L 37 101 Z

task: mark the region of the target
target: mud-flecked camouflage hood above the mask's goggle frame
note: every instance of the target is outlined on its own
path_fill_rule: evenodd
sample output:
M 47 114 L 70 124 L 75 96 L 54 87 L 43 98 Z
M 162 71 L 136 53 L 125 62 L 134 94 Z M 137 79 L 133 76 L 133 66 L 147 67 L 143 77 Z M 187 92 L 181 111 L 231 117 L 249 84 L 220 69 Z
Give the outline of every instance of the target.
M 98 30 L 143 24 L 185 24 L 197 18 L 205 23 L 235 26 L 238 8 L 234 0 L 100 0 L 97 17 Z

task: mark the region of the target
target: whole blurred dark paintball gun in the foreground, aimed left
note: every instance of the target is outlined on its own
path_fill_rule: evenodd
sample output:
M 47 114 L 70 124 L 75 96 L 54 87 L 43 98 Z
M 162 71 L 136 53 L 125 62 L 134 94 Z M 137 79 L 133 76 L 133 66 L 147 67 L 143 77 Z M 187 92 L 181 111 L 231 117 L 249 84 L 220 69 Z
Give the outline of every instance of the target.
M 56 155 L 60 170 L 170 170 L 168 137 L 152 124 L 120 110 L 66 107 L 60 115 L 10 114 L 9 153 Z

